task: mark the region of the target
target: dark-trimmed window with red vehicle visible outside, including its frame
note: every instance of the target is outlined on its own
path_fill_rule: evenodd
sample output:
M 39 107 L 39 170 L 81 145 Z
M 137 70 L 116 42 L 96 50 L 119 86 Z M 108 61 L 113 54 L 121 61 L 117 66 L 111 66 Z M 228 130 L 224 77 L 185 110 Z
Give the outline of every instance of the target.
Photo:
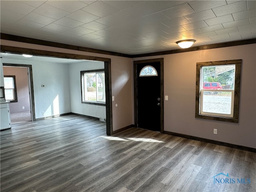
M 238 123 L 242 60 L 196 63 L 196 118 Z

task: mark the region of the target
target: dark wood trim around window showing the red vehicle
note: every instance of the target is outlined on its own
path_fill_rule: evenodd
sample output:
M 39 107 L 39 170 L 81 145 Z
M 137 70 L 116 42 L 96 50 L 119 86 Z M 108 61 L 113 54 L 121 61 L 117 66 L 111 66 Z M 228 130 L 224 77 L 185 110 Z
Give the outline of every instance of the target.
M 214 65 L 215 66 L 217 66 L 217 65 L 228 65 L 228 64 L 235 64 L 236 65 L 233 118 L 200 115 L 200 71 L 201 71 L 201 67 L 202 66 L 214 66 Z M 238 120 L 239 120 L 241 68 L 242 68 L 242 59 L 225 60 L 225 61 L 212 61 L 212 62 L 198 62 L 198 63 L 196 63 L 196 114 L 195 114 L 196 118 L 238 123 Z

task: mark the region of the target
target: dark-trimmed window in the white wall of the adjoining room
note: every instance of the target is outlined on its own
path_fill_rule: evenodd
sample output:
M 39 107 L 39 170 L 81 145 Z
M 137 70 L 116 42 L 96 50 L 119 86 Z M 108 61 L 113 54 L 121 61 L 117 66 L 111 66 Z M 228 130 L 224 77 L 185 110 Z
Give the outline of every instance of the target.
M 82 103 L 105 105 L 104 69 L 81 71 Z

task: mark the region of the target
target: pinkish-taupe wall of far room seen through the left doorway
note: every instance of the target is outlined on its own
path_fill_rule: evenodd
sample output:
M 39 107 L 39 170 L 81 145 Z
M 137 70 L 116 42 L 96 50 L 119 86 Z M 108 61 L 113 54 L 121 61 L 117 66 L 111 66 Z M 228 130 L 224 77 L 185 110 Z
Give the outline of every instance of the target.
M 4 75 L 14 75 L 18 102 L 9 104 L 10 113 L 30 111 L 30 95 L 28 84 L 28 68 L 24 67 L 3 67 Z M 22 109 L 24 106 L 24 109 Z

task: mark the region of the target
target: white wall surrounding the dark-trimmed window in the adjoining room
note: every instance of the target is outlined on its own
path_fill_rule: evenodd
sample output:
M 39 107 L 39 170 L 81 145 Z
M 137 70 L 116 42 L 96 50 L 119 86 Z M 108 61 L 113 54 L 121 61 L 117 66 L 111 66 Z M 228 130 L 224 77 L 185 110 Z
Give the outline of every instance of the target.
M 81 102 L 81 78 L 80 71 L 104 69 L 104 62 L 82 61 L 80 63 L 69 64 L 70 82 L 70 106 L 71 112 L 97 117 L 106 118 L 106 107 L 99 105 L 83 104 Z

